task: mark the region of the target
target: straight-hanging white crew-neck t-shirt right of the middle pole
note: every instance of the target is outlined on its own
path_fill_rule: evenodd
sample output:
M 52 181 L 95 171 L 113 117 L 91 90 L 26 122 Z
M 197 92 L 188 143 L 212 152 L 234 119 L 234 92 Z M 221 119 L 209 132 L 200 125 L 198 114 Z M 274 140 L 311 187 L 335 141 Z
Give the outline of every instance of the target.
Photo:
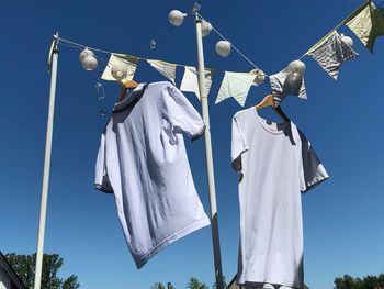
M 231 159 L 240 173 L 238 284 L 302 288 L 300 192 L 328 178 L 325 168 L 292 122 L 266 121 L 255 108 L 233 118 Z

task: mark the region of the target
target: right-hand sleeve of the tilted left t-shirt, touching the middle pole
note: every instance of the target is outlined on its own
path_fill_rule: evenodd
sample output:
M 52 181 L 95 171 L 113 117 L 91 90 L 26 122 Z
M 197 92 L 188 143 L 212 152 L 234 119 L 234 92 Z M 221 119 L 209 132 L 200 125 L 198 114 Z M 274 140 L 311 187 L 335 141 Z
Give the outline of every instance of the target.
M 185 96 L 174 86 L 168 86 L 170 97 L 166 98 L 169 121 L 176 133 L 185 133 L 191 141 L 204 134 L 205 125 L 195 108 Z

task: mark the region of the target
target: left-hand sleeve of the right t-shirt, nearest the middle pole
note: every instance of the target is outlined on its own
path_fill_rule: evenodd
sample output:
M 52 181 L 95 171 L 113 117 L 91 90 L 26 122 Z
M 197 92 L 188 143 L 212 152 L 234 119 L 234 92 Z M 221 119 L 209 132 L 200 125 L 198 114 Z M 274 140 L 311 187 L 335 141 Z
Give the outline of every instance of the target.
M 241 171 L 241 169 L 242 169 L 241 154 L 249 149 L 246 142 L 245 142 L 241 125 L 239 122 L 240 122 L 240 120 L 238 119 L 238 115 L 235 115 L 231 119 L 230 155 L 231 155 L 231 167 L 236 171 Z

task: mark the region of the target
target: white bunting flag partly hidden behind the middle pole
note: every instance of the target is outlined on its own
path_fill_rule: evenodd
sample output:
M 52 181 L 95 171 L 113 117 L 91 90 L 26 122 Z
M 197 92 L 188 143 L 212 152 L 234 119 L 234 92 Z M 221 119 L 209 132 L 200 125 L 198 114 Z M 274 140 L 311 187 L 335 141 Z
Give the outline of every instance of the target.
M 215 70 L 205 68 L 205 93 L 210 95 L 212 78 Z M 194 92 L 200 99 L 199 79 L 196 68 L 193 66 L 184 66 L 184 75 L 181 80 L 180 90 L 185 92 Z

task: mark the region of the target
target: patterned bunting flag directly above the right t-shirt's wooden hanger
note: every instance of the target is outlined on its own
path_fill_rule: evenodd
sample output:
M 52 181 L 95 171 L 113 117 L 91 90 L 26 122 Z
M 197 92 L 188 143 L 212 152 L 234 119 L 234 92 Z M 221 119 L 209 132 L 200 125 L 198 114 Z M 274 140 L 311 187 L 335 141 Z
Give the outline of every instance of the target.
M 272 93 L 280 100 L 286 96 L 296 96 L 301 99 L 307 99 L 304 77 L 291 74 L 287 68 L 269 77 L 272 88 Z

